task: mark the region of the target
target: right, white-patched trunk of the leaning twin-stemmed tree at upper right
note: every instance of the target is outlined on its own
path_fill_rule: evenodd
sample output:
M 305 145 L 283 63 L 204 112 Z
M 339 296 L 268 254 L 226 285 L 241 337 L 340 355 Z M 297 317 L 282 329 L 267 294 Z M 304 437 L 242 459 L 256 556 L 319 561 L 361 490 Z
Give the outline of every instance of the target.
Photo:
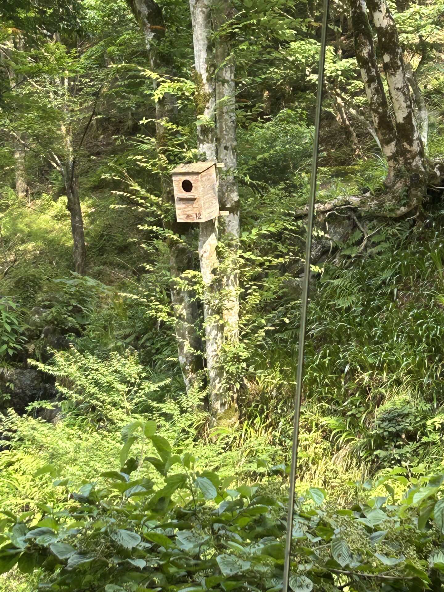
M 377 31 L 394 112 L 398 166 L 407 174 L 422 175 L 426 169 L 424 147 L 413 110 L 395 21 L 385 0 L 367 0 L 367 4 Z

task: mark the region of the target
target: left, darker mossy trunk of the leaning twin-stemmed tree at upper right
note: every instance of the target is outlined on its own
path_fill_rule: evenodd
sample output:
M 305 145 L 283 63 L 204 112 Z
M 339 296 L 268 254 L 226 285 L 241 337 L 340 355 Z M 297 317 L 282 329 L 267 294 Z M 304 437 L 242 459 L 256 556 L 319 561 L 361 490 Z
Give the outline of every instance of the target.
M 365 1 L 350 0 L 353 35 L 355 40 L 356 61 L 361 69 L 365 94 L 375 131 L 381 145 L 382 154 L 387 161 L 387 185 L 391 185 L 397 168 L 397 141 L 393 123 L 388 110 L 381 75 L 376 61 L 373 33 L 368 20 Z

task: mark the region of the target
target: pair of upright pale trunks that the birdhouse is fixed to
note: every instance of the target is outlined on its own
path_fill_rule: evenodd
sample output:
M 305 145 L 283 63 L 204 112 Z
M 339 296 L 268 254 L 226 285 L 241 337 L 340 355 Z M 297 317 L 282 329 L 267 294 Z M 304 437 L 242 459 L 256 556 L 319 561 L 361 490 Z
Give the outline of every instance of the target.
M 200 224 L 199 258 L 204 284 L 205 355 L 213 416 L 234 403 L 227 385 L 223 346 L 239 337 L 239 281 L 234 253 L 239 239 L 239 192 L 236 169 L 236 114 L 234 63 L 224 25 L 231 5 L 222 0 L 190 0 L 193 28 L 195 80 L 197 83 L 198 149 L 207 160 L 224 163 L 218 183 L 219 200 L 229 211 L 226 221 L 217 218 Z M 211 39 L 214 36 L 214 50 Z M 217 252 L 220 239 L 227 243 L 227 257 Z

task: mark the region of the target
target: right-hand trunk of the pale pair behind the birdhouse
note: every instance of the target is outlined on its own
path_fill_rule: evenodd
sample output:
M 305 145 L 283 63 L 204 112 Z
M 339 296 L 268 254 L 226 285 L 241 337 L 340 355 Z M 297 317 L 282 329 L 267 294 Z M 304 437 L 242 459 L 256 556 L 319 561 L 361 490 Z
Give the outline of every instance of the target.
M 220 233 L 226 240 L 224 260 L 224 343 L 236 343 L 239 339 L 239 276 L 236 251 L 239 244 L 239 188 L 235 176 L 236 161 L 236 83 L 234 62 L 230 52 L 230 40 L 221 34 L 221 27 L 232 17 L 230 0 L 220 0 L 214 15 L 217 157 L 224 163 L 219 176 L 219 200 L 221 208 L 229 212 L 221 221 Z

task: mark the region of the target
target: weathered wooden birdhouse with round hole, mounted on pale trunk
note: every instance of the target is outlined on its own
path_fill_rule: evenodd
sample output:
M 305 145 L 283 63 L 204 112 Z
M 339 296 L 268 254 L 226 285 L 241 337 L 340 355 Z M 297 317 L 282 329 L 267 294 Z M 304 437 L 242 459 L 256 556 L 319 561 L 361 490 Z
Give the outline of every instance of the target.
M 215 160 L 176 166 L 172 171 L 178 222 L 206 222 L 219 213 Z

